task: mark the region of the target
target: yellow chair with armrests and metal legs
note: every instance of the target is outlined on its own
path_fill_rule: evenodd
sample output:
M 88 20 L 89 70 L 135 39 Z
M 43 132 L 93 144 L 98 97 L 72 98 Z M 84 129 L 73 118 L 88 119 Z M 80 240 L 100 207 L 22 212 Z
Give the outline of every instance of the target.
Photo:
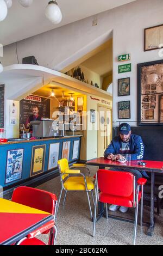
M 92 218 L 93 215 L 92 215 L 92 209 L 91 209 L 91 204 L 90 204 L 89 192 L 91 191 L 91 193 L 92 193 L 92 200 L 93 200 L 93 204 L 95 205 L 95 201 L 93 198 L 93 190 L 95 188 L 95 185 L 94 185 L 95 179 L 93 179 L 90 176 L 89 171 L 88 171 L 89 175 L 85 176 L 83 173 L 80 172 L 80 170 L 71 169 L 74 167 L 85 167 L 86 168 L 85 164 L 73 164 L 73 166 L 71 168 L 69 168 L 67 159 L 61 159 L 58 161 L 58 167 L 59 167 L 60 180 L 61 180 L 61 192 L 60 192 L 60 196 L 59 196 L 59 200 L 58 200 L 57 212 L 59 209 L 60 199 L 61 199 L 63 190 L 65 190 L 63 206 L 65 204 L 66 195 L 67 195 L 68 191 L 86 191 L 87 199 L 89 202 L 90 214 L 91 214 L 91 218 Z

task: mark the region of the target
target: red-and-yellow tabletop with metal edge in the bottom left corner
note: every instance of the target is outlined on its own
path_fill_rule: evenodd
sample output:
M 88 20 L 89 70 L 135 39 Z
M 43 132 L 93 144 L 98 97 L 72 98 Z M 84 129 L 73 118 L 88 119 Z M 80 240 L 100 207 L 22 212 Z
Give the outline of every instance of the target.
M 53 218 L 48 212 L 0 198 L 0 245 L 12 245 Z

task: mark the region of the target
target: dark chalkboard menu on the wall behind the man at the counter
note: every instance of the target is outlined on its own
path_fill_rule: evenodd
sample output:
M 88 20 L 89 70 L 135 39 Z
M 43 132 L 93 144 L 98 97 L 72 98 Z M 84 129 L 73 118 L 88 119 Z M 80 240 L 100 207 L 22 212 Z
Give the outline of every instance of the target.
M 29 115 L 32 115 L 32 108 L 39 108 L 39 115 L 43 118 L 50 118 L 51 100 L 45 97 L 29 95 L 20 101 L 20 124 L 26 124 Z

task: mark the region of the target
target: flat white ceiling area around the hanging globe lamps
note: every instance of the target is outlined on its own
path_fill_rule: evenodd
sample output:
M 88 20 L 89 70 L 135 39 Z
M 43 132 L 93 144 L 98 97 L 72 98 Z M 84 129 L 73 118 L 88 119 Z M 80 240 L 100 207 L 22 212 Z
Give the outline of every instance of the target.
M 0 22 L 0 43 L 3 45 L 20 41 L 68 23 L 102 13 L 135 0 L 57 0 L 63 19 L 53 25 L 45 17 L 48 0 L 34 0 L 29 8 L 23 8 L 18 0 L 12 0 L 7 18 Z

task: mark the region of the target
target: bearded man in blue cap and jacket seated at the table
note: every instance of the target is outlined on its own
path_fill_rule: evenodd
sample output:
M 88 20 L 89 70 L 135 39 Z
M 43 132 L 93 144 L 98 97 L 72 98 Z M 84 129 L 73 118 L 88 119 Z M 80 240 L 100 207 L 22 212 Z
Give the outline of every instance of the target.
M 110 145 L 104 152 L 104 157 L 109 160 L 123 160 L 123 155 L 131 154 L 131 160 L 142 160 L 144 154 L 145 146 L 142 142 L 142 138 L 138 135 L 131 134 L 131 127 L 127 123 L 123 123 L 119 126 L 119 135 L 112 139 Z M 135 179 L 138 180 L 142 178 L 142 175 L 148 176 L 146 172 L 140 172 L 139 170 L 126 170 L 126 169 L 116 169 L 111 168 L 112 170 L 118 170 L 121 172 L 130 172 L 135 175 Z M 116 211 L 120 208 L 121 212 L 127 212 L 128 208 L 118 205 L 110 205 L 110 211 Z

